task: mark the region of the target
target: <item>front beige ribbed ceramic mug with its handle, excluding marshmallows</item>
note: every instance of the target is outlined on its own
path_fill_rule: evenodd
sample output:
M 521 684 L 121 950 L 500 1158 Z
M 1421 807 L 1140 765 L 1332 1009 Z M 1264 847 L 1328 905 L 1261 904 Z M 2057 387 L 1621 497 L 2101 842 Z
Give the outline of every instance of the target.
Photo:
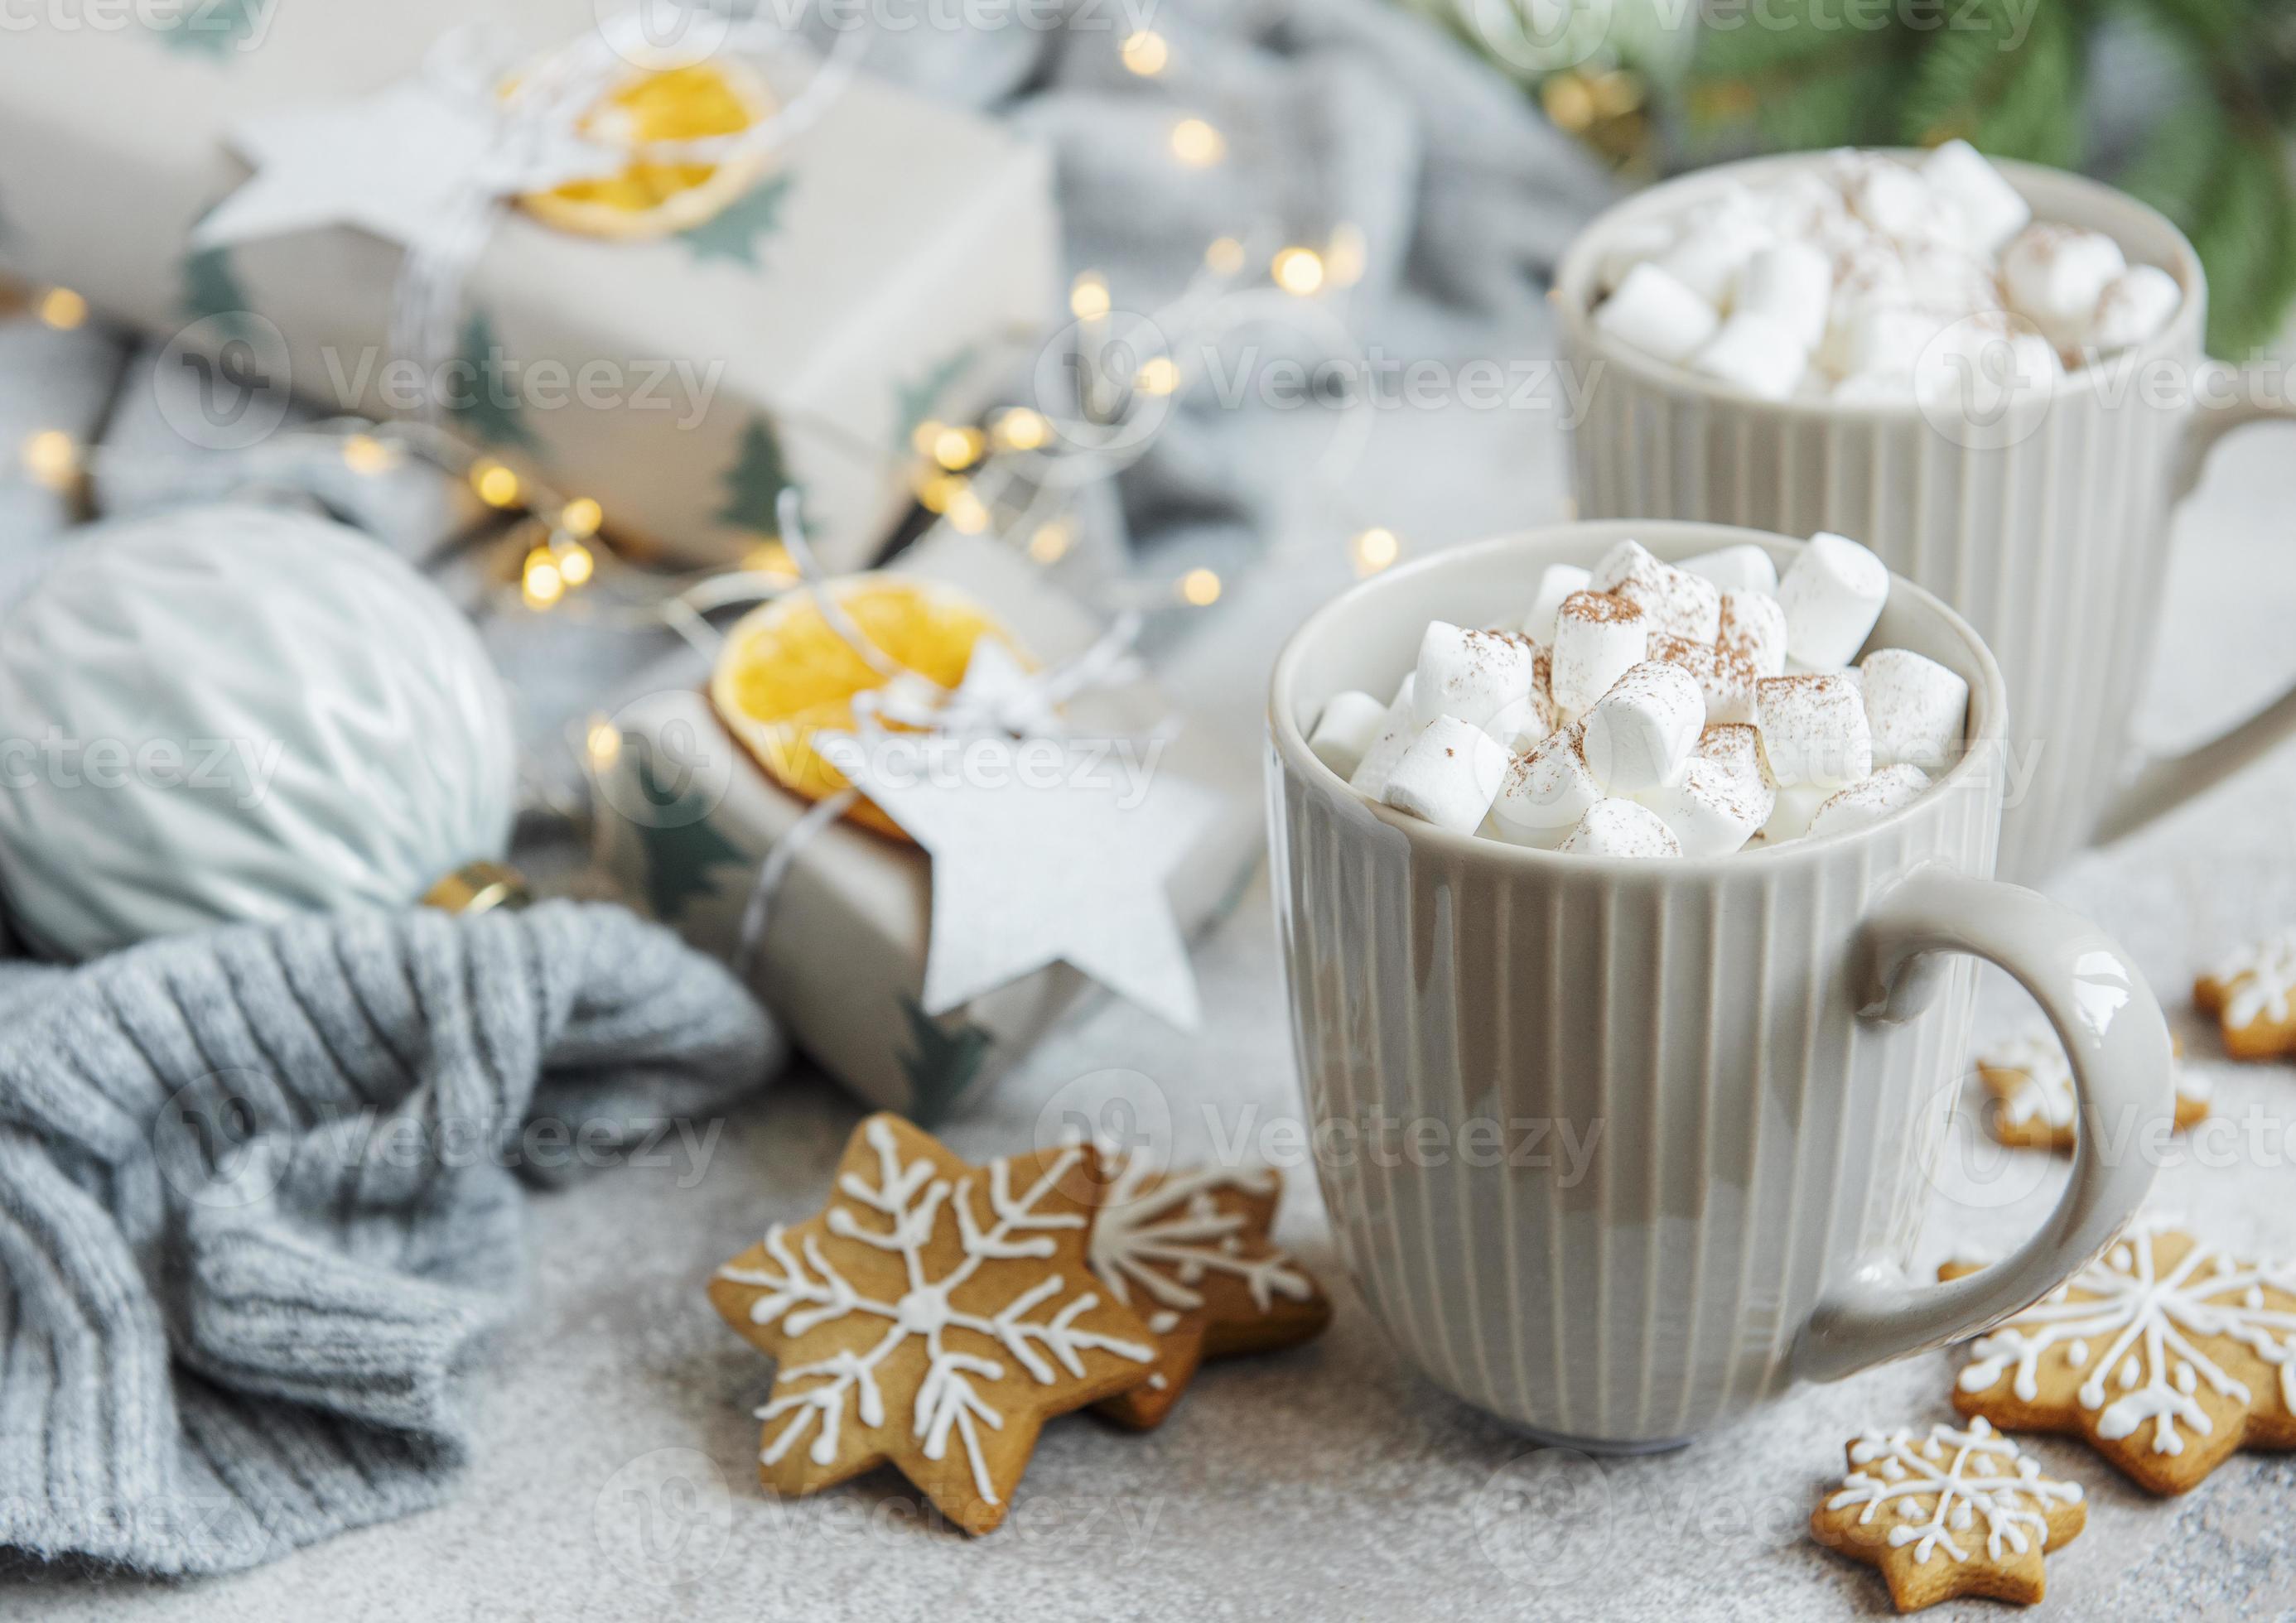
M 1968 746 L 1880 822 L 1699 861 L 1451 833 L 1306 744 L 1336 693 L 1396 686 L 1430 620 L 1520 615 L 1623 535 L 1665 560 L 1800 542 L 1577 523 L 1437 553 L 1316 613 L 1270 691 L 1270 824 L 1293 1040 L 1341 1253 L 1394 1343 L 1550 1439 L 1655 1449 L 1798 1380 L 1970 1336 L 2135 1214 L 2170 1042 L 2099 930 L 1991 879 L 2004 693 L 1975 631 L 1894 581 L 1871 647 L 1970 684 Z M 1995 1267 L 1910 1283 L 1965 1070 L 1975 957 L 2064 1038 L 2080 1148 Z M 2158 1125 L 2156 1125 L 2158 1123 Z

